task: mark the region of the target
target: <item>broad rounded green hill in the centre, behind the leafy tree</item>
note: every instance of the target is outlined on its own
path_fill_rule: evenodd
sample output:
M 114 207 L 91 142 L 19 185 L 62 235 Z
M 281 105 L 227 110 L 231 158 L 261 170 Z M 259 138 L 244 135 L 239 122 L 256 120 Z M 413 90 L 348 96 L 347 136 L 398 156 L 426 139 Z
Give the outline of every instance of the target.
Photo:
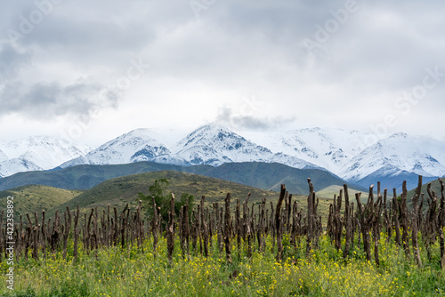
M 223 205 L 224 197 L 228 192 L 231 193 L 231 208 L 234 209 L 236 199 L 240 199 L 240 203 L 244 201 L 247 193 L 251 192 L 249 205 L 259 204 L 263 197 L 267 199 L 267 207 L 270 207 L 270 201 L 275 205 L 279 193 L 271 190 L 255 189 L 245 185 L 224 181 L 206 176 L 192 174 L 192 173 L 178 173 L 178 172 L 154 172 L 154 173 L 139 173 L 104 181 L 93 189 L 86 190 L 78 197 L 67 201 L 51 210 L 51 214 L 55 209 L 63 211 L 67 205 L 74 209 L 77 205 L 82 213 L 89 212 L 92 207 L 98 207 L 100 210 L 105 209 L 107 205 L 111 207 L 117 206 L 120 211 L 126 203 L 129 203 L 133 208 L 136 206 L 138 200 L 138 193 L 148 194 L 148 188 L 155 180 L 166 179 L 170 182 L 168 190 L 174 193 L 174 196 L 179 198 L 182 193 L 188 193 L 195 197 L 198 202 L 201 196 L 206 196 L 206 205 L 218 202 Z M 294 196 L 294 200 L 298 201 L 299 208 L 306 209 L 306 195 Z M 319 213 L 323 218 L 328 217 L 329 204 L 332 198 L 320 198 Z M 147 206 L 148 207 L 148 206 Z M 256 211 L 256 209 L 255 209 Z

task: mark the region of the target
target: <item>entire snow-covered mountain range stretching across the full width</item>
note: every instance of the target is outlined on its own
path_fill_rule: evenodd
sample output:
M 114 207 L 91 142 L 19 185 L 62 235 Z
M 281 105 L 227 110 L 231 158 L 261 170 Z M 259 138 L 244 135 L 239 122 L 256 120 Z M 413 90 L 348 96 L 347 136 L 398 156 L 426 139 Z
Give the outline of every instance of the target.
M 168 146 L 158 139 L 157 132 L 136 129 L 89 152 L 64 140 L 44 137 L 0 143 L 0 176 L 56 166 L 139 161 L 213 166 L 275 162 L 300 169 L 325 169 L 364 187 L 368 187 L 369 177 L 372 181 L 391 178 L 399 182 L 398 176 L 407 174 L 445 176 L 445 142 L 406 133 L 376 137 L 334 128 L 237 133 L 219 124 L 205 124 Z

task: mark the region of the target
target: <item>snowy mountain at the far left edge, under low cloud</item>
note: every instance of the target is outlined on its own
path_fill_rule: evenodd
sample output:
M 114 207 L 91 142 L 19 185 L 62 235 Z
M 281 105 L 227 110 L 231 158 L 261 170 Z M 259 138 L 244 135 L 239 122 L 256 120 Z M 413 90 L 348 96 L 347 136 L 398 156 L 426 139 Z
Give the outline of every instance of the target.
M 85 153 L 85 148 L 48 136 L 0 142 L 0 177 L 52 169 L 62 162 L 84 156 Z

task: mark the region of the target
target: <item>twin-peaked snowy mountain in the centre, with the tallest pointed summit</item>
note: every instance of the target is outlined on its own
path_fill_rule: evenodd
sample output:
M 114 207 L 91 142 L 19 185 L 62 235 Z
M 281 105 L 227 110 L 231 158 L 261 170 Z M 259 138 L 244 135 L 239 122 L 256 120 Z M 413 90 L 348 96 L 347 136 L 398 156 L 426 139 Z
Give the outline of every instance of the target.
M 170 165 L 222 165 L 232 162 L 277 162 L 296 168 L 315 168 L 297 157 L 274 154 L 219 124 L 206 124 L 176 142 L 172 148 L 156 140 L 155 132 L 138 129 L 101 145 L 84 157 L 61 165 L 116 165 L 151 161 Z

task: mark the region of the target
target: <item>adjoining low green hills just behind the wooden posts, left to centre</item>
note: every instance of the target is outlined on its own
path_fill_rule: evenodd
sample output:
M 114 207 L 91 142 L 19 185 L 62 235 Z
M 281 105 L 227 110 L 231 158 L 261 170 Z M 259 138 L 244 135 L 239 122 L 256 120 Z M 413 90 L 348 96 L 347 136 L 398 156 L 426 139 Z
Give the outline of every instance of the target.
M 147 195 L 150 185 L 159 179 L 166 179 L 170 182 L 168 190 L 173 192 L 175 197 L 179 198 L 182 193 L 188 193 L 193 195 L 196 199 L 195 201 L 198 202 L 200 197 L 204 195 L 206 196 L 206 205 L 218 202 L 223 206 L 224 197 L 230 192 L 232 209 L 235 208 L 236 199 L 239 198 L 242 203 L 249 191 L 251 192 L 249 206 L 261 203 L 262 198 L 266 197 L 267 208 L 269 208 L 270 202 L 272 201 L 275 205 L 279 197 L 278 192 L 256 189 L 232 181 L 224 181 L 192 173 L 163 171 L 138 173 L 110 179 L 93 187 L 93 189 L 85 191 L 57 189 L 41 185 L 9 189 L 0 192 L 0 206 L 4 209 L 6 197 L 13 196 L 15 213 L 22 215 L 37 212 L 40 217 L 44 209 L 47 213 L 47 218 L 49 218 L 54 215 L 56 209 L 64 212 L 66 206 L 69 206 L 70 209 L 75 209 L 77 205 L 79 205 L 82 213 L 87 213 L 92 207 L 96 206 L 102 212 L 107 205 L 111 207 L 117 206 L 120 212 L 126 203 L 129 203 L 134 208 L 138 200 L 138 193 L 142 192 Z M 303 207 L 305 210 L 306 195 L 294 196 L 293 201 L 298 201 L 299 209 Z M 319 213 L 323 218 L 328 216 L 328 207 L 331 201 L 332 197 L 320 198 Z M 256 211 L 257 209 L 255 208 Z

